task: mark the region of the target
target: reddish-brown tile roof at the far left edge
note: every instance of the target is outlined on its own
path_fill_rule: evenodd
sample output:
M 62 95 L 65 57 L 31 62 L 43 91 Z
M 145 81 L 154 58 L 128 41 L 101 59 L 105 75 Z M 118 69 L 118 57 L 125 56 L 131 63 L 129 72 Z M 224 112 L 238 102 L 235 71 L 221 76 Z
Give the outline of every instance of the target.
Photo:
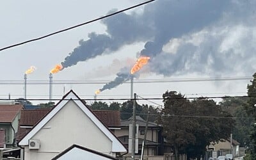
M 13 122 L 15 116 L 17 116 L 22 108 L 21 104 L 0 105 L 0 123 Z

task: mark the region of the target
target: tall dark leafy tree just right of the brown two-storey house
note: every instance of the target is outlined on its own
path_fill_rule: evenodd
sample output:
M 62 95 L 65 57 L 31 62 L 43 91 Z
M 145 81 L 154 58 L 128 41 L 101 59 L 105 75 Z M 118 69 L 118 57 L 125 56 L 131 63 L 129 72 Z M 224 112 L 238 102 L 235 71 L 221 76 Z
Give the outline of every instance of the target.
M 173 91 L 165 92 L 163 102 L 164 108 L 161 111 L 163 134 L 174 150 L 175 159 L 178 159 L 178 155 L 185 152 L 188 144 L 195 143 L 193 132 L 198 124 L 189 117 L 193 113 L 193 108 L 184 95 Z

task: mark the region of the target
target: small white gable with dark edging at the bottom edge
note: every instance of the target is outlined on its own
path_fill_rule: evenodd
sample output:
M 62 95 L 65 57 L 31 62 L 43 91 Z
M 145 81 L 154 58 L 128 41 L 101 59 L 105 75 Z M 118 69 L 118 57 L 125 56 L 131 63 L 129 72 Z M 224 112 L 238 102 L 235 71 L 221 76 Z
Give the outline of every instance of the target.
M 79 146 L 79 145 L 72 145 L 72 146 L 70 146 L 70 147 L 68 147 L 66 150 L 64 150 L 63 152 L 61 152 L 60 154 L 58 154 L 56 157 L 54 157 L 54 158 L 52 158 L 51 160 L 57 160 L 57 159 L 61 159 L 61 157 L 64 157 L 65 156 L 65 154 L 68 154 L 68 152 L 70 152 L 70 151 L 72 151 L 72 150 L 75 150 L 75 149 L 78 149 L 78 152 L 76 151 L 76 152 L 73 152 L 73 153 L 71 153 L 72 154 L 72 159 L 74 159 L 74 160 L 79 160 L 79 159 L 81 159 L 81 157 L 84 157 L 83 155 L 81 155 L 81 157 L 79 157 L 79 152 L 80 152 L 80 154 L 81 154 L 81 151 L 83 151 L 84 152 L 84 154 L 88 154 L 88 153 L 91 153 L 91 154 L 96 154 L 97 156 L 99 156 L 99 157 L 104 157 L 104 158 L 106 158 L 106 159 L 114 159 L 114 160 L 117 160 L 117 159 L 115 159 L 114 157 L 111 157 L 111 156 L 109 156 L 109 155 L 106 155 L 106 154 L 102 154 L 101 152 L 97 152 L 97 151 L 95 151 L 95 150 L 91 150 L 91 149 L 89 149 L 89 148 L 85 148 L 85 147 L 82 147 L 82 146 Z M 76 158 L 74 158 L 74 156 L 77 156 Z M 88 157 L 87 157 L 88 158 Z M 66 157 L 66 158 L 63 158 L 63 159 L 70 159 L 70 158 L 68 158 L 68 157 Z

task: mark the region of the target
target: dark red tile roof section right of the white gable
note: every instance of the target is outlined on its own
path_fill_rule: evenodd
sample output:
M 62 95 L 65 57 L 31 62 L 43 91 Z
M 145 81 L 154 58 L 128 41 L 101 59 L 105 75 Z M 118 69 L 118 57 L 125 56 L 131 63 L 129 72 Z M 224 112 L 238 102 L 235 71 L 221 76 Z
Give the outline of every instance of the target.
M 120 127 L 120 111 L 100 111 L 93 110 L 93 113 L 108 127 Z

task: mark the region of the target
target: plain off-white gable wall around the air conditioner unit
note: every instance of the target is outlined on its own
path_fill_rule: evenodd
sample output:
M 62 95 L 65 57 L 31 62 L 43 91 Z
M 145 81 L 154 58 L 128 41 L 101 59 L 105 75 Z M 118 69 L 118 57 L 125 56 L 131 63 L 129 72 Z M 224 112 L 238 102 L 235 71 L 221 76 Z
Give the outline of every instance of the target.
M 40 149 L 29 150 L 26 147 L 26 160 L 51 159 L 73 144 L 114 155 L 109 138 L 72 101 L 31 139 L 40 140 Z

